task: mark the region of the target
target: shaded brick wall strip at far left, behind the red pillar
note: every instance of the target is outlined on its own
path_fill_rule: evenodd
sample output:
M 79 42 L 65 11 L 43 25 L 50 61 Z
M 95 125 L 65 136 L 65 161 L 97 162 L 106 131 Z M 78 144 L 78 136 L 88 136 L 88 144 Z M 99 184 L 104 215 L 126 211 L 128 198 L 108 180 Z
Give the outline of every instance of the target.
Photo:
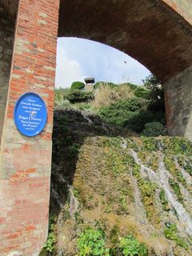
M 0 14 L 0 142 L 10 80 L 10 65 L 14 44 L 14 22 Z

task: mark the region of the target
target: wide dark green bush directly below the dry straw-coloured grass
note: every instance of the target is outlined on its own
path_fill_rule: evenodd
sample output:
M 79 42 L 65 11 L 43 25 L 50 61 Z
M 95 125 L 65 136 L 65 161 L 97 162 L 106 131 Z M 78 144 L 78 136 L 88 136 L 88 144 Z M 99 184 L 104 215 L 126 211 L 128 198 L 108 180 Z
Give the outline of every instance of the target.
M 103 106 L 98 110 L 98 114 L 106 122 L 117 126 L 124 126 L 125 122 L 132 118 L 134 113 L 140 109 L 140 99 L 131 98 L 112 103 L 110 106 Z

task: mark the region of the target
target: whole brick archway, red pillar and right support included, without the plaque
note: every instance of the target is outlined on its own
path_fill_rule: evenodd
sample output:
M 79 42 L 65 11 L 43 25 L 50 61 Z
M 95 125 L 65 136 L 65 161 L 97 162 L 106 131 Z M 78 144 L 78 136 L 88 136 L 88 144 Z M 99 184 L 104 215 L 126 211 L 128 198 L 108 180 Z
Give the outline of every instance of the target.
M 0 0 L 0 12 L 11 17 L 12 2 Z M 192 138 L 191 9 L 190 0 L 61 0 L 60 10 L 59 0 L 19 0 L 1 144 L 1 255 L 38 255 L 46 240 L 58 36 L 104 42 L 142 62 L 164 83 L 169 133 Z M 42 134 L 26 138 L 13 109 L 31 90 L 49 118 Z

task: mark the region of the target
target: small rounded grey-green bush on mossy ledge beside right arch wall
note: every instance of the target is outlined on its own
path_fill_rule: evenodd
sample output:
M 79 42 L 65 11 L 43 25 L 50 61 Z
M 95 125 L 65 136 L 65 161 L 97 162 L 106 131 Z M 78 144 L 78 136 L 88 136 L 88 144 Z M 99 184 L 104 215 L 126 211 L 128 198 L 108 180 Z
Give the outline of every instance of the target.
M 145 125 L 145 129 L 142 131 L 142 135 L 146 137 L 166 135 L 166 129 L 161 122 L 148 122 Z

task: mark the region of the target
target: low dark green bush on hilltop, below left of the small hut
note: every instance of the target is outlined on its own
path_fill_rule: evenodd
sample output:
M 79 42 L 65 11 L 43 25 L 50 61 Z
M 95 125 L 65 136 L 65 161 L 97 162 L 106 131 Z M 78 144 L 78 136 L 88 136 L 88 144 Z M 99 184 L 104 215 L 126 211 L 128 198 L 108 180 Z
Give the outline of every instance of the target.
M 92 92 L 83 90 L 70 90 L 70 94 L 64 96 L 63 99 L 68 99 L 71 103 L 75 102 L 89 102 L 93 98 Z

